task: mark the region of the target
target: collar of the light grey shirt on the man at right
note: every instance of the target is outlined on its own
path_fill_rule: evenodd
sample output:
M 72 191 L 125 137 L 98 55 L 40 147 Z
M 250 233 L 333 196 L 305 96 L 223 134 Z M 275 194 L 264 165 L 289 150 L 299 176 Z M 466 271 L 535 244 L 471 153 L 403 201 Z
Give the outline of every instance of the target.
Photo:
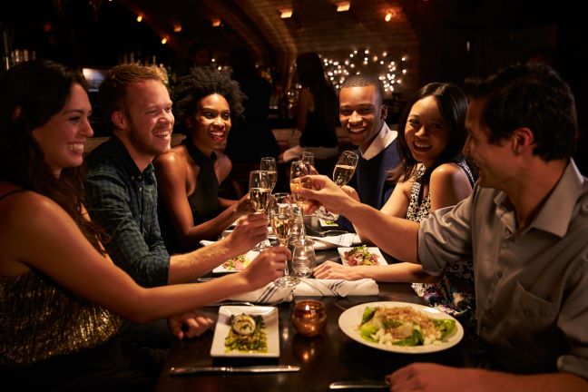
M 557 182 L 554 190 L 544 202 L 544 206 L 524 231 L 534 228 L 550 232 L 558 237 L 564 237 L 573 218 L 576 201 L 583 194 L 584 182 L 585 179 L 578 171 L 575 162 L 570 160 L 562 178 Z M 513 205 L 508 200 L 505 192 L 501 191 L 496 195 L 495 203 L 498 207 L 497 211 L 500 211 L 499 213 L 512 211 L 514 214 Z

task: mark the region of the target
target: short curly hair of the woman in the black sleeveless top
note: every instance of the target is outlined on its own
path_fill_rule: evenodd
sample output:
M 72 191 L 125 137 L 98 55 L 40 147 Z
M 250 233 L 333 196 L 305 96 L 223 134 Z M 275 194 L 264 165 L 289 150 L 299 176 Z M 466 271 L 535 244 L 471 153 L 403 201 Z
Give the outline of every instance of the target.
M 186 120 L 198 111 L 202 98 L 213 93 L 227 100 L 231 119 L 239 118 L 247 97 L 240 91 L 239 83 L 230 79 L 230 73 L 230 69 L 223 71 L 211 66 L 192 68 L 191 73 L 182 76 L 171 93 L 176 123 L 184 127 Z

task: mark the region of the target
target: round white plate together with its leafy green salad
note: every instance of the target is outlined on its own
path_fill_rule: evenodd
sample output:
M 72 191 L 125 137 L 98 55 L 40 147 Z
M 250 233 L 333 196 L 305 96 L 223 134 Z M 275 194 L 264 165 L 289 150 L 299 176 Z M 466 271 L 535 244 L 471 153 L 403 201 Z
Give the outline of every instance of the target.
M 349 308 L 338 319 L 349 337 L 371 348 L 423 354 L 454 347 L 464 328 L 441 310 L 408 302 L 369 302 Z

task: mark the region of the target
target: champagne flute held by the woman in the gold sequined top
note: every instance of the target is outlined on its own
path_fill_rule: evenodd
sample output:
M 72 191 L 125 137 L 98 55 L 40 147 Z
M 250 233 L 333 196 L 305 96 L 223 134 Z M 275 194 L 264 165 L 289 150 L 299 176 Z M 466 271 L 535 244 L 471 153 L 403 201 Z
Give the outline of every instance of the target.
M 280 246 L 287 246 L 290 230 L 294 223 L 294 209 L 289 193 L 274 193 L 270 196 L 270 222 L 273 233 L 279 241 Z M 274 280 L 274 284 L 278 287 L 294 287 L 300 279 L 289 274 L 290 266 L 286 266 L 284 276 Z

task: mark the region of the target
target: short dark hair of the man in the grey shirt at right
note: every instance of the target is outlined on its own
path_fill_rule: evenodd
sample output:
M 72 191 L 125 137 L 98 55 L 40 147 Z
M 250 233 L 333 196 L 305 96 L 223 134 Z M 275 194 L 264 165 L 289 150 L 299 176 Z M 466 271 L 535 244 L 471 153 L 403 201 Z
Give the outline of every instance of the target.
M 549 65 L 509 65 L 484 80 L 468 80 L 466 91 L 485 101 L 489 142 L 526 127 L 534 133 L 534 155 L 545 162 L 573 155 L 578 134 L 573 93 Z

